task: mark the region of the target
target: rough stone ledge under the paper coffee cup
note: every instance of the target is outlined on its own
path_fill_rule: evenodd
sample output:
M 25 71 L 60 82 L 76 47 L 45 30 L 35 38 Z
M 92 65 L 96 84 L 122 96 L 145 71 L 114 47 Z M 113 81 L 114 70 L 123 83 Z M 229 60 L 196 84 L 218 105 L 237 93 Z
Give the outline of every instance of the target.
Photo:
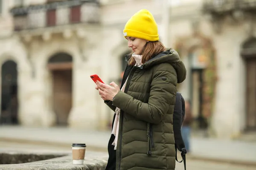
M 84 158 L 84 164 L 73 164 L 72 155 L 24 164 L 0 165 L 0 170 L 104 170 L 108 158 Z

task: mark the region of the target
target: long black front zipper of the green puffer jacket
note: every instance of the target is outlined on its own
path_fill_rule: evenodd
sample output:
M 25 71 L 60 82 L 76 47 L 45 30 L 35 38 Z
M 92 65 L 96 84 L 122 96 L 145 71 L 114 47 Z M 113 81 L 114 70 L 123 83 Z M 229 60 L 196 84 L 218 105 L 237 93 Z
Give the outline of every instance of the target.
M 130 85 L 131 82 L 131 78 L 134 74 L 134 71 L 136 70 L 137 67 L 133 67 L 131 69 L 131 72 L 128 76 L 127 82 L 126 82 L 126 86 L 125 86 L 125 90 L 124 92 L 127 93 L 128 91 L 128 87 Z M 124 119 L 124 115 L 122 113 L 122 111 L 120 112 L 120 122 L 119 122 L 119 131 L 118 131 L 118 141 L 117 141 L 117 146 L 116 146 L 116 153 L 118 153 L 118 155 L 116 156 L 116 167 L 118 167 L 118 169 L 116 168 L 116 170 L 120 170 L 120 166 L 121 166 L 121 152 L 122 152 L 122 124 L 123 124 L 123 119 Z

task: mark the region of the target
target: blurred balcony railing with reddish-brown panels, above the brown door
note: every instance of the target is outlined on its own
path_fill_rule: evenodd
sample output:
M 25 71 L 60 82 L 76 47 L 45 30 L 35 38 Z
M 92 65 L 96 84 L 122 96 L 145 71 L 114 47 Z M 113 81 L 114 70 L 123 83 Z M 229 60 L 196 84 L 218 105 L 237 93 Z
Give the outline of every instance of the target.
M 15 31 L 75 23 L 99 23 L 100 18 L 99 3 L 96 0 L 57 1 L 13 8 L 11 12 Z

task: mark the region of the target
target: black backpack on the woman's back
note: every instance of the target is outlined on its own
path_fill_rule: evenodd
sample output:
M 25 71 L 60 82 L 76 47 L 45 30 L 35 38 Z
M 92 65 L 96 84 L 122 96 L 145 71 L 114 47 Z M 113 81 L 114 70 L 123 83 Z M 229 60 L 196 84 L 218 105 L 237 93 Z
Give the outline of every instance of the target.
M 173 110 L 173 133 L 174 133 L 174 139 L 175 139 L 175 158 L 177 160 L 177 149 L 181 152 L 182 160 L 178 161 L 181 163 L 183 161 L 184 168 L 186 170 L 186 147 L 184 144 L 184 141 L 181 136 L 181 126 L 183 123 L 185 117 L 185 101 L 183 96 L 176 92 L 176 101 L 175 106 Z

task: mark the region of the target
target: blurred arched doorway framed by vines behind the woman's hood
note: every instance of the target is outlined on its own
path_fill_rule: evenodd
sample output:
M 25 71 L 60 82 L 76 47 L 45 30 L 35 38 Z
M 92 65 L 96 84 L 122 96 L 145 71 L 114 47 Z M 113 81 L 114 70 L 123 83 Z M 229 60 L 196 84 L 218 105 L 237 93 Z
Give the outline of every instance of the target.
M 212 41 L 201 34 L 180 37 L 174 48 L 185 63 L 187 77 L 180 88 L 189 100 L 193 127 L 207 133 L 215 105 L 217 60 Z

